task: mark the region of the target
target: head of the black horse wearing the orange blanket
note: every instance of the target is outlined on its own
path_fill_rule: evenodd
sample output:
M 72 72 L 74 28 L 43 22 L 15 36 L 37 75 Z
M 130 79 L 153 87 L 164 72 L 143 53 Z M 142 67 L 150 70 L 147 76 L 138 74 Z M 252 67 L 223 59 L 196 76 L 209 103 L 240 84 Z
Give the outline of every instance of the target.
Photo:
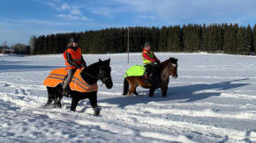
M 99 59 L 100 64 L 100 72 L 99 79 L 106 85 L 106 88 L 111 89 L 113 86 L 112 78 L 111 78 L 111 68 L 110 68 L 110 59 L 106 61 L 102 61 Z

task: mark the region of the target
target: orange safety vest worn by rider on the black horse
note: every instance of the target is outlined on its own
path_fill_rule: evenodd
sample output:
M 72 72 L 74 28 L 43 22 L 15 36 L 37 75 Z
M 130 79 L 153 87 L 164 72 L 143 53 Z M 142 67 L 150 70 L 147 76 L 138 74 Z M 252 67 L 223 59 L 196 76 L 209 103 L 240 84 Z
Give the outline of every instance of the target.
M 66 53 L 69 53 L 72 55 L 72 60 L 75 61 L 75 63 L 77 63 L 78 65 L 81 65 L 81 57 L 82 57 L 82 51 L 81 48 L 78 47 L 78 49 L 76 51 L 74 51 L 72 48 L 68 48 L 65 52 L 64 52 L 64 60 L 65 60 L 65 66 L 67 69 L 72 69 L 72 68 L 76 68 L 75 66 L 72 66 L 68 61 L 67 61 L 67 57 L 66 57 Z

